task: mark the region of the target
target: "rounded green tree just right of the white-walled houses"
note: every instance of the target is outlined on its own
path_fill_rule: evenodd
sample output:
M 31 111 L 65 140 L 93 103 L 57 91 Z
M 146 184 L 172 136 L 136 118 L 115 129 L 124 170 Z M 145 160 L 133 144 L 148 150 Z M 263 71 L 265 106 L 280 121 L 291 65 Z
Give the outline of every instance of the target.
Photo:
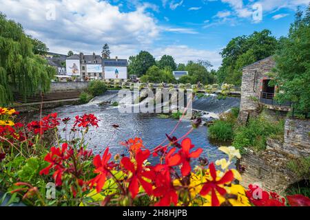
M 154 56 L 147 51 L 141 51 L 136 56 L 130 56 L 128 73 L 141 77 L 147 72 L 149 67 L 152 67 L 152 65 L 156 65 Z

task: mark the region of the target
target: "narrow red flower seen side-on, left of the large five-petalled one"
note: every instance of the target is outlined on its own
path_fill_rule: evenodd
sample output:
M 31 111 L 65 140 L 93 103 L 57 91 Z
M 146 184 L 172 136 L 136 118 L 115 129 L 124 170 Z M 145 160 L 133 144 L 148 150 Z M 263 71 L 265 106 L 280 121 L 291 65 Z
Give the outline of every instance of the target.
M 109 148 L 105 149 L 103 153 L 102 159 L 100 155 L 96 155 L 94 157 L 94 166 L 96 166 L 96 170 L 94 173 L 98 173 L 94 179 L 90 180 L 90 186 L 94 186 L 96 184 L 96 191 L 100 192 L 105 184 L 105 180 L 107 178 L 107 174 L 109 173 L 109 167 L 107 162 L 109 162 L 111 158 L 111 153 L 109 153 Z

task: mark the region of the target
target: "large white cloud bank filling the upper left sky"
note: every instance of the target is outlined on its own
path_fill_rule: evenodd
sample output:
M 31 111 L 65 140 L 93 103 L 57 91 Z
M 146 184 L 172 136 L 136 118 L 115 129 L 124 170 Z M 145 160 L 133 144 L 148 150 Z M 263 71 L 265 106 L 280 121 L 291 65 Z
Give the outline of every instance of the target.
M 48 3 L 56 8 L 55 20 L 46 19 Z M 47 43 L 54 52 L 99 53 L 102 45 L 109 43 L 114 48 L 112 54 L 124 54 L 124 48 L 130 52 L 147 47 L 161 32 L 156 19 L 145 11 L 157 9 L 149 3 L 132 12 L 120 12 L 118 6 L 97 0 L 0 0 L 0 5 L 1 12 L 21 23 L 27 34 Z

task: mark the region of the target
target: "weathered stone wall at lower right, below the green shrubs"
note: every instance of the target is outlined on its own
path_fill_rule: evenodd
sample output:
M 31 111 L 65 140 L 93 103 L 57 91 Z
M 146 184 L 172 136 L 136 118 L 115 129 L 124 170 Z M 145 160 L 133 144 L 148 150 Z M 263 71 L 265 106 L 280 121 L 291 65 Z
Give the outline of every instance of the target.
M 310 155 L 310 120 L 287 119 L 284 140 L 267 140 L 265 151 L 247 150 L 240 159 L 245 166 L 242 186 L 261 184 L 267 190 L 283 192 L 290 184 L 300 181 L 287 164 L 298 157 Z

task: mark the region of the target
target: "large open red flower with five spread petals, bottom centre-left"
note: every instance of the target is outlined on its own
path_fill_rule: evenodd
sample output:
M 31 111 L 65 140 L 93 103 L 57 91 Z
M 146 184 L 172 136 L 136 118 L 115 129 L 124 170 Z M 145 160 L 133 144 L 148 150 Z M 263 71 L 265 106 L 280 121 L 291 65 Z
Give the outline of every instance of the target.
M 123 164 L 124 168 L 132 173 L 132 177 L 128 181 L 130 181 L 129 190 L 133 198 L 136 197 L 140 185 L 147 192 L 147 195 L 152 194 L 152 184 L 143 179 L 154 179 L 154 171 L 145 170 L 143 166 L 143 162 L 149 157 L 149 154 L 149 150 L 136 152 L 136 164 L 131 162 L 129 157 L 121 159 L 121 164 Z

